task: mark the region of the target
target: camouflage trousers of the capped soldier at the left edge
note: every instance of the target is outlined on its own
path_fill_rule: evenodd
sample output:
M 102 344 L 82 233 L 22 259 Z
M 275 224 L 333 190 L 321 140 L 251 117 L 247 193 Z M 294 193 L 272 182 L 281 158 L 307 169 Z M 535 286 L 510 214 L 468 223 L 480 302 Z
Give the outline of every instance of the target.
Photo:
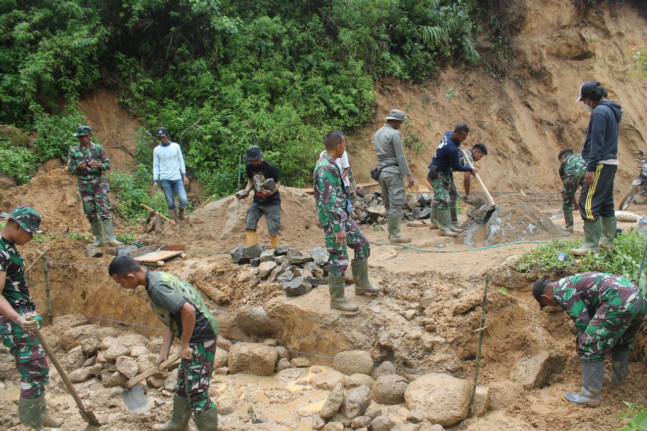
M 27 313 L 25 310 L 24 313 Z M 24 314 L 18 311 L 21 315 Z M 43 325 L 41 315 L 36 316 L 38 326 Z M 36 334 L 25 333 L 18 325 L 0 316 L 0 340 L 16 359 L 16 369 L 20 375 L 20 397 L 37 399 L 45 393 L 45 384 L 49 381 L 49 366 L 45 359 L 43 346 L 38 342 Z

